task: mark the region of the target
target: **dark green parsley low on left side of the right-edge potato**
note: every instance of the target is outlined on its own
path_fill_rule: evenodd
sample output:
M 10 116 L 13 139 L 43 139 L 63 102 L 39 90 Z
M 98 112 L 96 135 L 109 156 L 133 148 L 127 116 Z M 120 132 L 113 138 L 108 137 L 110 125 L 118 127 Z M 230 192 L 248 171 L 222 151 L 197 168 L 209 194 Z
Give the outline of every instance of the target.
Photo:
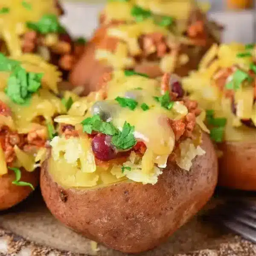
M 210 137 L 213 141 L 221 143 L 224 137 L 225 126 L 227 124 L 226 118 L 215 118 L 214 111 L 206 111 L 206 120 L 210 128 Z

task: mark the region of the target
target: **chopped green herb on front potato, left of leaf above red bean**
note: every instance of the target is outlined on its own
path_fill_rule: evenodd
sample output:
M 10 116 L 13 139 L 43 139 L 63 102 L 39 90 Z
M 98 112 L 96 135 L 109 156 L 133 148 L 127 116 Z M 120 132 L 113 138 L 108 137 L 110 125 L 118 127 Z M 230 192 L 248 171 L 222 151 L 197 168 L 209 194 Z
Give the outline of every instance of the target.
M 83 132 L 92 134 L 93 131 L 98 131 L 107 135 L 116 135 L 118 130 L 111 122 L 104 122 L 100 119 L 99 114 L 88 117 L 81 122 L 83 125 Z

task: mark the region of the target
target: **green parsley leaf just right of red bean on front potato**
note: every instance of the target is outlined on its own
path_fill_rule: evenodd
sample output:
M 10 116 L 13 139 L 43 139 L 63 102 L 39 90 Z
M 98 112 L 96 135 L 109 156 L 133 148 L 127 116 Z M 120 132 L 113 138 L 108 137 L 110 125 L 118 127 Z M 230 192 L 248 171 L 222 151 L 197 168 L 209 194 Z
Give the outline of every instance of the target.
M 134 126 L 125 121 L 122 131 L 112 137 L 111 143 L 122 150 L 132 148 L 137 143 L 134 137 Z

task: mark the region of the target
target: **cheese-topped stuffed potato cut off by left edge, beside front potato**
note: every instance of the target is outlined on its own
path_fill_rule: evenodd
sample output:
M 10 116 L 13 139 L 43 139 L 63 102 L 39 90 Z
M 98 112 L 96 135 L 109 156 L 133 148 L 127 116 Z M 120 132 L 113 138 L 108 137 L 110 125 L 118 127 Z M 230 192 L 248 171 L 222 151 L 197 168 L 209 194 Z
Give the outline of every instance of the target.
M 66 113 L 51 90 L 60 74 L 39 56 L 0 55 L 0 210 L 23 201 L 39 183 L 52 118 Z

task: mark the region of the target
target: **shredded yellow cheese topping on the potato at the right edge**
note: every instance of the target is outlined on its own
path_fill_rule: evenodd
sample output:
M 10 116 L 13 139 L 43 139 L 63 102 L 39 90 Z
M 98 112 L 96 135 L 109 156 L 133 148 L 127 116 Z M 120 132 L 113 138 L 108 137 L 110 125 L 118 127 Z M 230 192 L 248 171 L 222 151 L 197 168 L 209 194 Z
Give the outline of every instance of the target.
M 198 71 L 183 79 L 183 87 L 190 93 L 191 99 L 197 100 L 201 107 L 213 110 L 215 117 L 227 119 L 224 139 L 227 141 L 255 140 L 256 130 L 241 123 L 241 119 L 251 119 L 256 125 L 256 104 L 254 72 L 251 70 L 252 80 L 242 79 L 240 84 L 235 84 L 234 97 L 228 97 L 229 82 L 233 81 L 234 73 L 241 70 L 246 76 L 253 65 L 255 48 L 242 44 L 213 45 L 202 58 Z M 223 72 L 228 71 L 227 77 Z M 219 79 L 224 76 L 224 81 Z M 249 74 L 250 76 L 250 74 Z M 219 79 L 219 80 L 218 80 Z M 254 81 L 253 81 L 254 80 Z M 223 83 L 220 85 L 220 83 Z M 222 90 L 224 88 L 224 91 Z M 234 100 L 234 102 L 232 102 Z M 233 108 L 236 105 L 236 115 Z

